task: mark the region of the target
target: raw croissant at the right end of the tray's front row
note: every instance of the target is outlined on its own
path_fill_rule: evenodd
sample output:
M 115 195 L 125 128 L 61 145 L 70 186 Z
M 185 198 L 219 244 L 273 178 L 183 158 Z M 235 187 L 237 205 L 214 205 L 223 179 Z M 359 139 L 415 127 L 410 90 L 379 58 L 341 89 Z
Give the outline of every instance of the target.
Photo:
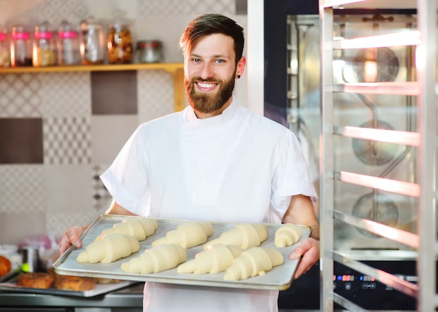
M 253 247 L 243 251 L 240 257 L 233 260 L 225 272 L 224 279 L 239 281 L 257 275 L 264 275 L 273 267 L 283 264 L 281 253 L 274 248 Z

